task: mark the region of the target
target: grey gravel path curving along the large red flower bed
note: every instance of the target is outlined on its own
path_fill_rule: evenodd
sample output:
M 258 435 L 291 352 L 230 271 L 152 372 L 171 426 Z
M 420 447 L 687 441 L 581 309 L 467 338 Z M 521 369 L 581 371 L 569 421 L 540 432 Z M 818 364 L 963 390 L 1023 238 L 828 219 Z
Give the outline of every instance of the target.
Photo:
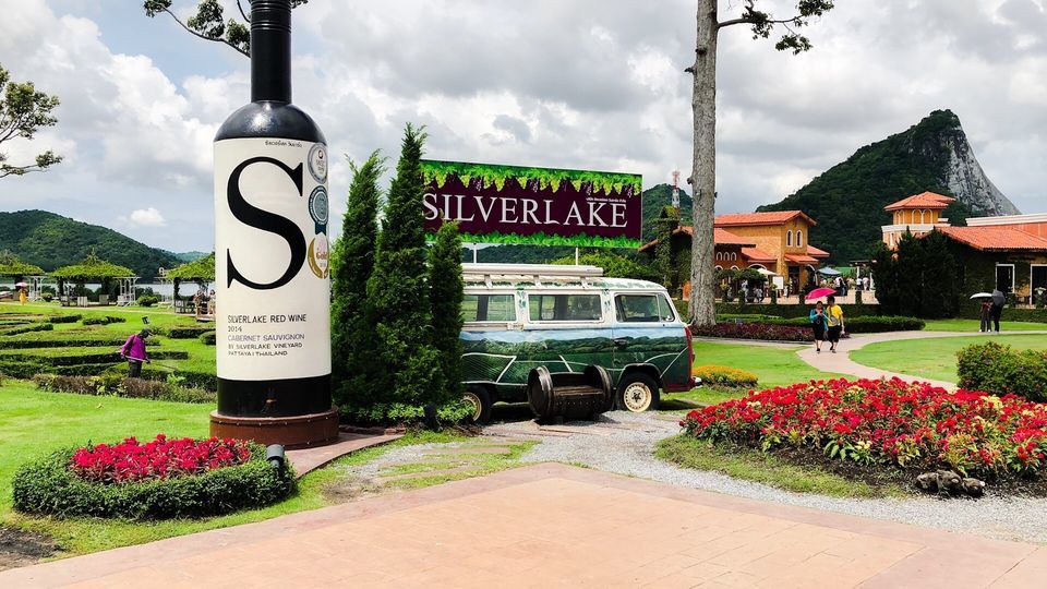
M 930 496 L 866 500 L 792 493 L 658 460 L 651 454 L 655 442 L 679 432 L 679 428 L 673 421 L 659 419 L 657 414 L 613 411 L 605 413 L 602 422 L 604 425 L 617 423 L 623 428 L 599 426 L 601 435 L 579 433 L 564 437 L 545 437 L 541 444 L 524 455 L 522 459 L 534 462 L 581 464 L 609 472 L 759 501 L 930 526 L 1002 540 L 1047 543 L 1047 498 L 997 497 L 990 494 L 977 501 L 938 500 Z M 583 430 L 585 426 L 579 429 Z M 534 424 L 530 421 L 504 423 L 491 428 L 491 432 L 497 432 L 498 435 L 533 434 Z

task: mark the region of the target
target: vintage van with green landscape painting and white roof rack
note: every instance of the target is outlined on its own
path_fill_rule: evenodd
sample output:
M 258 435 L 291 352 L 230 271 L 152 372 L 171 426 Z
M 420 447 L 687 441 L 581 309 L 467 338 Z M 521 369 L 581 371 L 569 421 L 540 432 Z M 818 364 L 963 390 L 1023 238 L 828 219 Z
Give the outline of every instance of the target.
M 689 390 L 690 330 L 669 293 L 595 266 L 464 264 L 462 381 L 473 420 L 497 401 L 526 402 L 537 366 L 607 370 L 618 409 L 646 411 L 659 392 Z

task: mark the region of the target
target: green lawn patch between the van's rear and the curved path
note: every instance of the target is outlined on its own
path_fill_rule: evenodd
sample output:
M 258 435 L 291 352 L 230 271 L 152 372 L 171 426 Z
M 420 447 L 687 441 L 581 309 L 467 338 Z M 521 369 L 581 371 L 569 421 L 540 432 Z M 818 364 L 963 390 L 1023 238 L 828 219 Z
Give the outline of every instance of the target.
M 784 386 L 813 378 L 839 378 L 845 374 L 820 372 L 796 356 L 804 346 L 770 347 L 744 344 L 695 342 L 695 365 L 718 364 L 747 370 L 760 387 Z

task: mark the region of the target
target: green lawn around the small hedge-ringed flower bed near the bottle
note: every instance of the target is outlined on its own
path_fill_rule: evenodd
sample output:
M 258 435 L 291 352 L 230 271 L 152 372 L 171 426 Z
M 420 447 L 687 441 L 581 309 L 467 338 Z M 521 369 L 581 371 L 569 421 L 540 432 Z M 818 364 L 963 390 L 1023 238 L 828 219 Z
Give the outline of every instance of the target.
M 338 469 L 324 468 L 302 478 L 299 492 L 281 503 L 221 517 L 132 522 L 57 519 L 12 510 L 11 478 L 22 462 L 55 449 L 88 442 L 113 442 L 129 435 L 140 438 L 157 433 L 206 436 L 210 409 L 208 405 L 41 393 L 29 383 L 7 381 L 0 387 L 0 524 L 50 536 L 62 548 L 61 555 L 67 556 L 260 521 L 337 503 L 328 489 L 340 481 L 341 474 Z M 392 445 L 345 456 L 333 465 L 365 462 L 395 445 L 459 440 L 437 433 L 405 436 Z

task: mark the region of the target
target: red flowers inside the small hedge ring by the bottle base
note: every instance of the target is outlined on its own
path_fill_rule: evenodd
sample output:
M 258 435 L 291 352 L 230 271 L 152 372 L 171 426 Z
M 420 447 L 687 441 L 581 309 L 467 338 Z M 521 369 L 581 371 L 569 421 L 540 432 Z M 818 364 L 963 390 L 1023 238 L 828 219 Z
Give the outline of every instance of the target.
M 200 474 L 237 466 L 251 458 L 246 442 L 239 440 L 156 440 L 140 443 L 129 437 L 120 444 L 98 444 L 73 453 L 70 470 L 86 481 L 121 483 Z

